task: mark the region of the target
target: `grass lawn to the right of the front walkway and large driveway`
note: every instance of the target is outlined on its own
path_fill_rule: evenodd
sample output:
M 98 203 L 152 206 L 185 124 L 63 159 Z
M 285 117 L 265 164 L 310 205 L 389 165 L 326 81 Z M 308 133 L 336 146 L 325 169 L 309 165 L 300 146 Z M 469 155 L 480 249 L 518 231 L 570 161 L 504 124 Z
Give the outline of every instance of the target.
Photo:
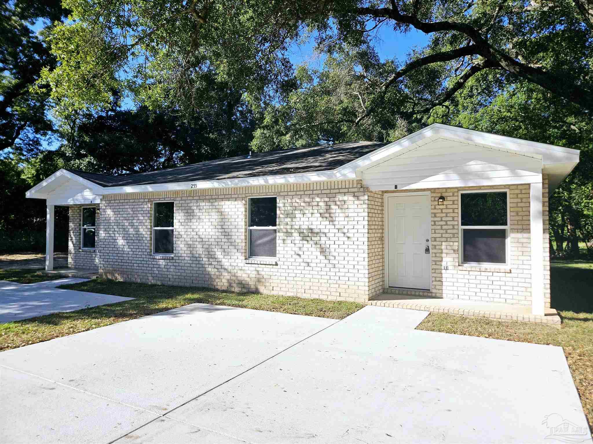
M 562 318 L 560 329 L 442 313 L 429 314 L 416 328 L 562 347 L 593 429 L 593 262 L 551 263 L 551 306 Z

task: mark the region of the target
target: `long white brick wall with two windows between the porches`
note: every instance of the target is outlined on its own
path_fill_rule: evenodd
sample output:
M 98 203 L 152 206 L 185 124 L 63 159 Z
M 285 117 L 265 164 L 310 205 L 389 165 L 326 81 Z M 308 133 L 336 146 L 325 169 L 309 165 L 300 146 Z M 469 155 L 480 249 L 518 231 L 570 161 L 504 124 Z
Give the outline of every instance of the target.
M 247 198 L 262 195 L 278 197 L 277 263 L 247 259 Z M 358 181 L 107 195 L 99 269 L 129 281 L 364 302 L 367 199 Z M 173 258 L 151 255 L 159 200 L 175 202 Z

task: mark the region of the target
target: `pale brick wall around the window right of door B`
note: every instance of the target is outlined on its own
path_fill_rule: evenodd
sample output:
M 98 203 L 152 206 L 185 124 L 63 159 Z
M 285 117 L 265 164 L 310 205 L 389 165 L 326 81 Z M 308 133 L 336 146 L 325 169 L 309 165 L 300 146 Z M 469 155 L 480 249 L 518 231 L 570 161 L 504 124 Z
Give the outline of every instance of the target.
M 544 298 L 550 307 L 547 176 L 544 175 Z M 510 207 L 509 266 L 478 268 L 459 263 L 459 192 L 508 189 Z M 431 190 L 432 294 L 436 297 L 531 304 L 530 186 L 473 186 Z M 389 191 L 397 193 L 397 191 Z M 439 196 L 445 204 L 438 205 Z M 448 270 L 444 269 L 448 266 Z M 384 271 L 383 271 L 384 272 Z

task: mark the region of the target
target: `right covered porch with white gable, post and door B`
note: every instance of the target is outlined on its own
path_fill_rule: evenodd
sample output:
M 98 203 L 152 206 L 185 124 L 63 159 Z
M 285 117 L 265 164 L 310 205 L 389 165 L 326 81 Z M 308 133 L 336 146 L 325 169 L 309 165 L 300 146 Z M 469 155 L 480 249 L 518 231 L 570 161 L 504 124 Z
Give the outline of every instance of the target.
M 381 217 L 369 236 L 383 240 L 383 285 L 368 303 L 559 323 L 548 199 L 577 162 L 576 150 L 438 124 L 372 153 L 356 170 Z

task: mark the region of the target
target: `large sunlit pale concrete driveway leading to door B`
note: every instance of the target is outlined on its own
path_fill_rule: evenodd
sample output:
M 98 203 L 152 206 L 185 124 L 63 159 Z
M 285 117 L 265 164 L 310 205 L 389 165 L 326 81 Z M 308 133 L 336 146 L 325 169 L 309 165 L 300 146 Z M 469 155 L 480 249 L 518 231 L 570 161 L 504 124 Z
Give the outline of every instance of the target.
M 425 316 L 192 304 L 8 350 L 0 440 L 524 443 L 559 418 L 586 427 L 562 349 L 414 330 Z

